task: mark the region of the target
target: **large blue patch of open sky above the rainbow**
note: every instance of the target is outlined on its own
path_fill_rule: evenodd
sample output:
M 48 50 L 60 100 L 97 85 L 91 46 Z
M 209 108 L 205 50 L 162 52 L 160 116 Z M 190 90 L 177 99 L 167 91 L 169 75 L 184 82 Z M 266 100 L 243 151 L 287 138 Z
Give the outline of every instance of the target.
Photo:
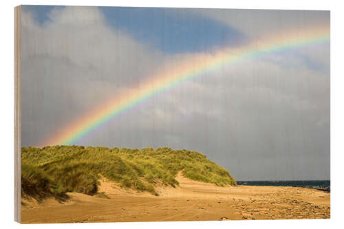
M 176 8 L 100 7 L 108 25 L 162 52 L 203 52 L 239 45 L 244 34 L 228 25 Z

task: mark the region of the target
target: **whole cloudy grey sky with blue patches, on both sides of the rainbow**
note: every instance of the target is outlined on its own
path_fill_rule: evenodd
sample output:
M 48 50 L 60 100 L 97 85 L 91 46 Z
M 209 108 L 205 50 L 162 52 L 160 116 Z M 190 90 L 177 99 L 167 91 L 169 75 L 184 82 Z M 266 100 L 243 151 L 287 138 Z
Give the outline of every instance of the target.
M 22 146 L 171 63 L 318 25 L 330 28 L 330 12 L 23 6 Z M 200 151 L 237 180 L 330 179 L 330 43 L 206 72 L 74 144 Z

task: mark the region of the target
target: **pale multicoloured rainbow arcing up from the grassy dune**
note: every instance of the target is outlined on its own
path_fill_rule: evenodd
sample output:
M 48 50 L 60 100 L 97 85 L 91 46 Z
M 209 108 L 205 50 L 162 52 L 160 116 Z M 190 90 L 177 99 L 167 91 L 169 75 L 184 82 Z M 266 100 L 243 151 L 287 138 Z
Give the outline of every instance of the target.
M 41 146 L 74 144 L 120 113 L 128 111 L 131 107 L 153 95 L 175 87 L 185 80 L 219 69 L 224 65 L 234 64 L 264 54 L 329 42 L 330 29 L 328 26 L 318 26 L 308 30 L 291 30 L 275 34 L 236 49 L 224 48 L 213 54 L 190 55 L 186 60 L 175 61 L 169 65 L 171 67 L 168 70 L 155 73 L 149 77 L 149 80 L 140 83 L 137 87 L 128 89 L 121 96 L 116 96 L 103 105 L 92 109 L 85 116 L 58 130 L 52 135 L 52 138 L 45 140 Z

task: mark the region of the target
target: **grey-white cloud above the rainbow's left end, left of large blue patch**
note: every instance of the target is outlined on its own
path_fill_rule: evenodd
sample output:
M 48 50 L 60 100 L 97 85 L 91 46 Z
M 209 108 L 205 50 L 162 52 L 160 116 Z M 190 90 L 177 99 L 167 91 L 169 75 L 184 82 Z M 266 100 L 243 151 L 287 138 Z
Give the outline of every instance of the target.
M 98 8 L 52 10 L 50 19 L 40 26 L 22 13 L 23 145 L 40 144 L 164 59 L 107 28 Z

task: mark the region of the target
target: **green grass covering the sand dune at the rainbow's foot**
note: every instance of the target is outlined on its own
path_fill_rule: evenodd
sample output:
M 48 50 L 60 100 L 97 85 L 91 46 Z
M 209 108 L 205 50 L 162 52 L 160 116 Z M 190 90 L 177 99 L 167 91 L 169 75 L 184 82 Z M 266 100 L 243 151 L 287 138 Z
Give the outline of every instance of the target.
M 21 149 L 21 163 L 21 193 L 35 198 L 67 192 L 96 195 L 100 175 L 123 188 L 153 195 L 157 195 L 154 188 L 157 182 L 178 185 L 175 179 L 178 171 L 182 171 L 184 177 L 201 182 L 236 185 L 225 168 L 205 155 L 170 148 L 28 147 Z

